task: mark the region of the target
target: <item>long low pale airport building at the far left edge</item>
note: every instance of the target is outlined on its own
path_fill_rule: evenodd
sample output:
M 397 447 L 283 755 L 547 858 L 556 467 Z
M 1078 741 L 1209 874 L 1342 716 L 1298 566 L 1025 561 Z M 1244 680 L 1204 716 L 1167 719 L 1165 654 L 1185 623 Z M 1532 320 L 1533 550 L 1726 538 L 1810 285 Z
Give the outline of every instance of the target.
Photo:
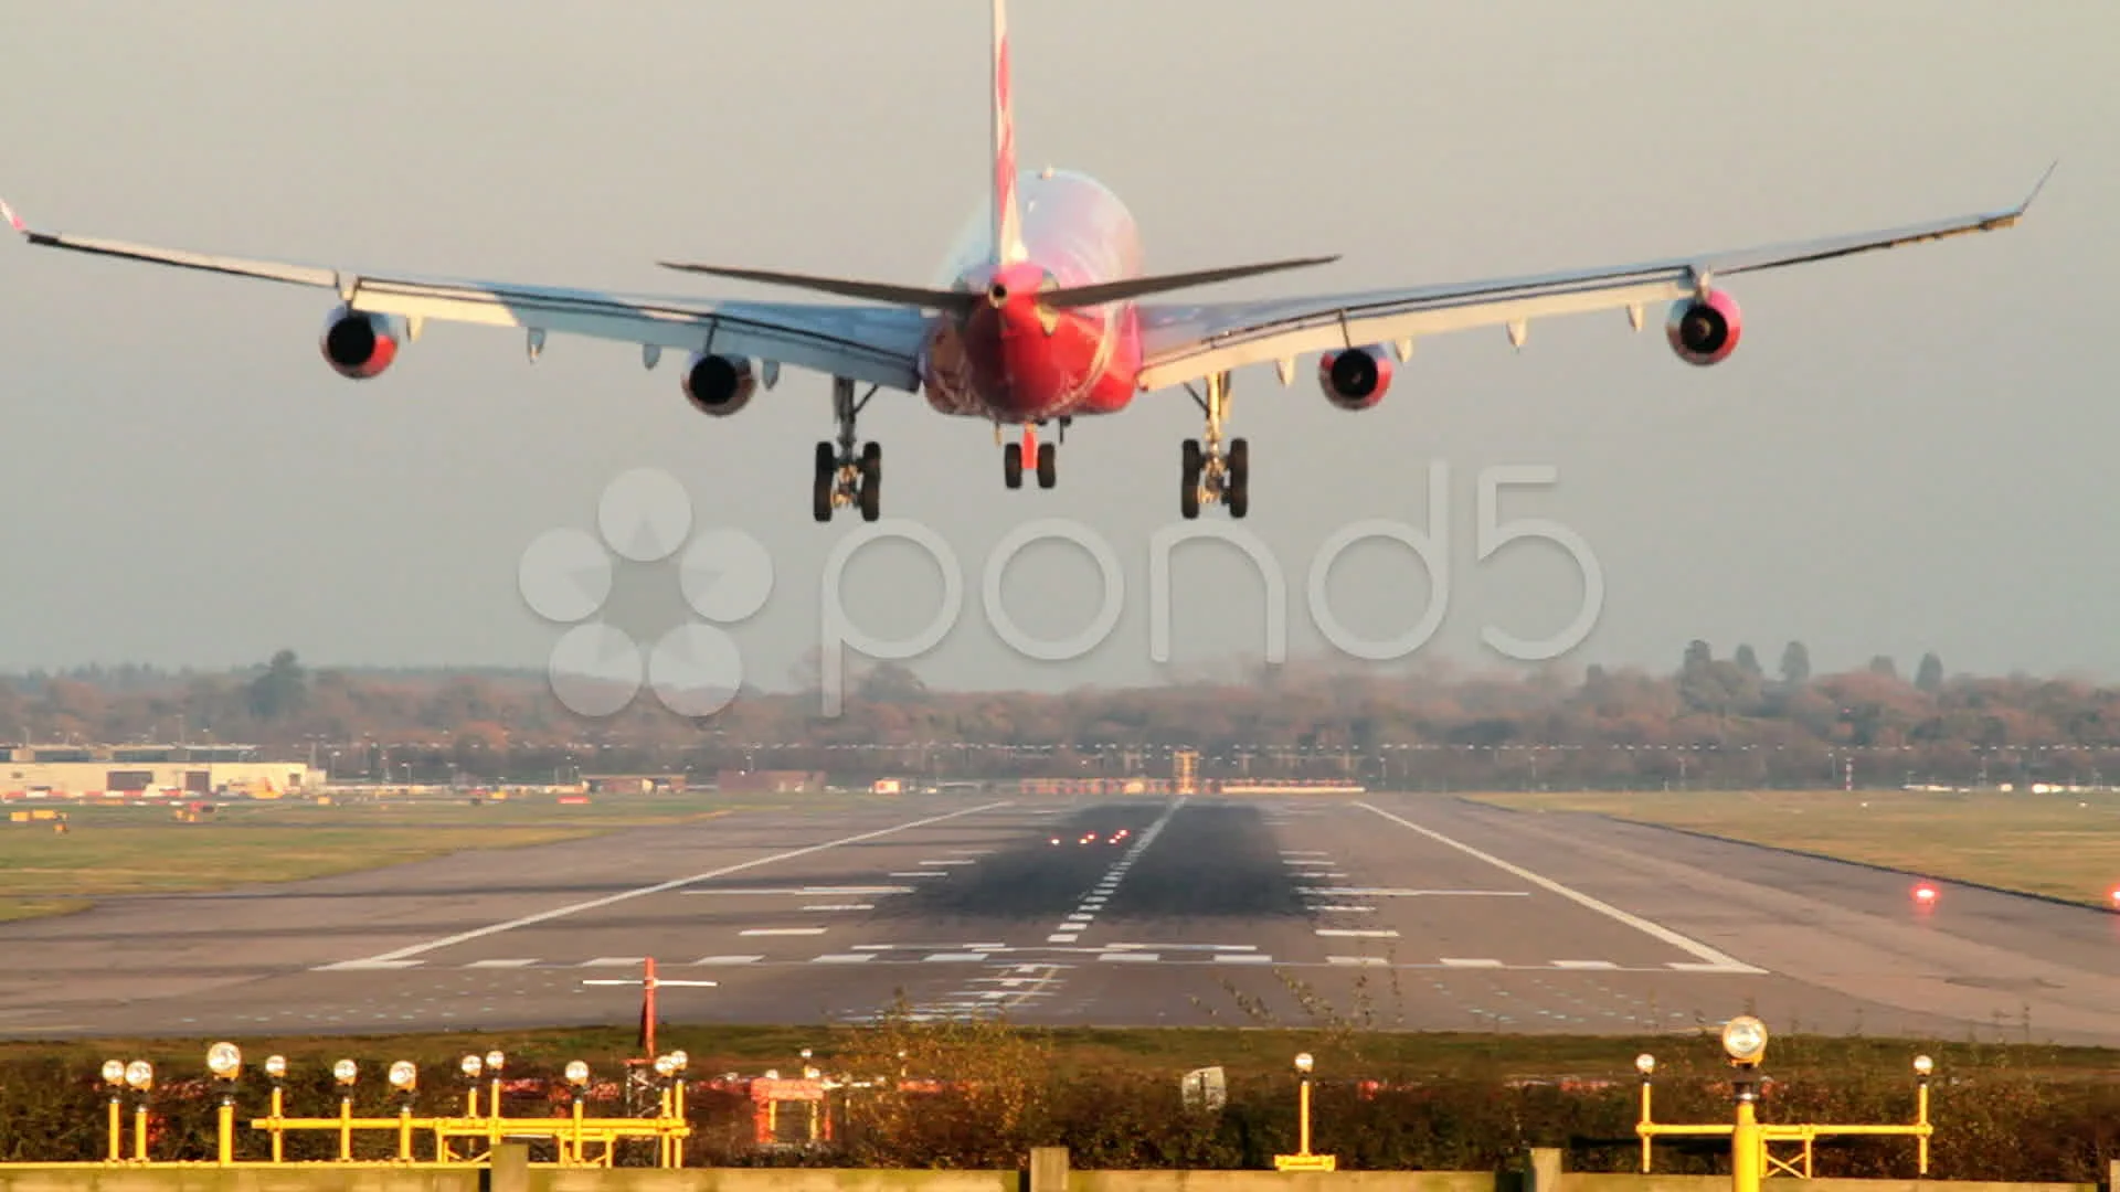
M 324 772 L 252 744 L 0 744 L 0 800 L 252 797 L 324 789 Z

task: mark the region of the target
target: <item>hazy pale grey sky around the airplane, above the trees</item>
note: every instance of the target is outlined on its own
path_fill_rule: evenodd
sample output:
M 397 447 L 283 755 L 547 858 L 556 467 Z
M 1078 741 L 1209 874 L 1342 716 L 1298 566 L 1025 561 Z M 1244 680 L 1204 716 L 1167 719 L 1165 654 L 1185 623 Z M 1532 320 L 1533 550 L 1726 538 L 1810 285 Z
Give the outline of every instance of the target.
M 32 223 L 223 252 L 443 276 L 759 295 L 659 257 L 924 282 L 986 185 L 986 4 L 280 0 L 13 4 L 0 193 Z M 2014 231 L 1741 278 L 1715 369 L 1618 314 L 1425 341 L 1367 414 L 1306 371 L 1238 375 L 1255 530 L 1291 588 L 1291 651 L 1323 638 L 1304 573 L 1336 528 L 1423 522 L 1450 467 L 1450 604 L 1420 658 L 1495 662 L 1480 626 L 1556 632 L 1567 556 L 1476 558 L 1476 475 L 1552 464 L 1503 515 L 1552 518 L 1605 573 L 1573 664 L 1675 666 L 1685 638 L 1787 638 L 1819 668 L 2120 672 L 2105 382 L 2120 274 L 2109 47 L 2120 8 L 1963 4 L 1380 4 L 1015 0 L 1024 165 L 1088 170 L 1132 206 L 1151 271 L 1342 252 L 1215 297 L 1601 265 L 1889 227 L 2016 201 Z M 774 295 L 787 297 L 787 295 Z M 1202 291 L 1208 297 L 1208 291 Z M 619 344 L 432 327 L 384 378 L 329 371 L 318 291 L 0 246 L 11 518 L 0 666 L 524 664 L 524 547 L 596 526 L 636 467 L 683 477 L 697 526 L 767 543 L 776 590 L 736 630 L 784 685 L 818 636 L 850 513 L 810 522 L 829 384 L 791 373 L 729 420 Z M 1660 312 L 1656 314 L 1660 318 Z M 1308 365 L 1308 363 L 1306 363 Z M 958 551 L 967 617 L 939 685 L 1141 683 L 1147 541 L 1177 522 L 1179 390 L 1077 422 L 1060 488 L 1001 486 L 988 426 L 878 395 L 886 513 Z M 977 615 L 988 549 L 1073 518 L 1126 566 L 1088 660 L 1018 658 Z M 1225 518 L 1211 511 L 1208 518 Z M 1257 653 L 1247 566 L 1177 568 L 1174 666 Z M 1391 636 L 1427 598 L 1367 543 L 1336 615 Z M 918 630 L 939 579 L 876 547 L 844 600 Z M 1066 547 L 1009 573 L 1009 613 L 1066 636 L 1096 571 Z

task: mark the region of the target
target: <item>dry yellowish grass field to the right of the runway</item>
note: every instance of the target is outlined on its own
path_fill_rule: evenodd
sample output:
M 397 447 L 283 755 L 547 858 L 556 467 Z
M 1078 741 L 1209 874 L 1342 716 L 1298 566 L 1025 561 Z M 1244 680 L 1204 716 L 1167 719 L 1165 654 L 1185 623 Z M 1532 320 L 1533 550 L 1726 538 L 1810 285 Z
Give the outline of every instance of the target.
M 1995 791 L 1643 791 L 1469 795 L 1601 812 L 1944 880 L 2112 908 L 2120 795 Z

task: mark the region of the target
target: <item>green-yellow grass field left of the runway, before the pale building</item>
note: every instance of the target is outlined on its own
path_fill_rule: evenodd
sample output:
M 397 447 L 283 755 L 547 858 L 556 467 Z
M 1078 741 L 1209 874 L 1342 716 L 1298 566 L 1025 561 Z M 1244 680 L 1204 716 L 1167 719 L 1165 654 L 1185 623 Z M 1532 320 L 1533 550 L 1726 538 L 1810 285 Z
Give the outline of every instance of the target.
M 64 836 L 49 823 L 0 821 L 0 921 L 66 914 L 108 895 L 220 891 L 464 848 L 522 848 L 689 823 L 736 806 L 712 793 L 598 797 L 583 806 L 560 806 L 553 795 L 483 806 L 401 795 L 333 806 L 225 804 L 199 823 L 178 823 L 170 808 L 61 810 Z

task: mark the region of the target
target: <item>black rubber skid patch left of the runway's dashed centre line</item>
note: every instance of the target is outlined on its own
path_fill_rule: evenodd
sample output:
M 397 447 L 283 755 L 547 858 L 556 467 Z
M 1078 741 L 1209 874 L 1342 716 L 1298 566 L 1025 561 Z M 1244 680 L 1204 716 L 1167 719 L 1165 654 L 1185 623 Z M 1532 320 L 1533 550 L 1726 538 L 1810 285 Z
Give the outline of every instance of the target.
M 880 918 L 994 916 L 1054 918 L 1081 901 L 1081 895 L 1102 878 L 1111 863 L 1126 855 L 1128 844 L 1164 814 L 1164 802 L 1124 802 L 1081 808 L 1068 817 L 1052 817 L 1032 836 L 979 857 L 977 865 L 954 865 L 939 878 L 882 878 L 914 887 L 914 893 L 882 901 Z M 1179 817 L 1183 821 L 1183 814 Z M 1172 821 L 1164 831 L 1177 827 Z M 1117 844 L 1113 834 L 1126 831 Z M 1083 836 L 1096 834 L 1092 842 Z M 1058 838 L 1058 844 L 1052 840 Z M 1143 857 L 1164 848 L 1162 840 Z M 907 865 L 916 870 L 918 865 Z M 1124 887 L 1121 887 L 1124 889 Z

